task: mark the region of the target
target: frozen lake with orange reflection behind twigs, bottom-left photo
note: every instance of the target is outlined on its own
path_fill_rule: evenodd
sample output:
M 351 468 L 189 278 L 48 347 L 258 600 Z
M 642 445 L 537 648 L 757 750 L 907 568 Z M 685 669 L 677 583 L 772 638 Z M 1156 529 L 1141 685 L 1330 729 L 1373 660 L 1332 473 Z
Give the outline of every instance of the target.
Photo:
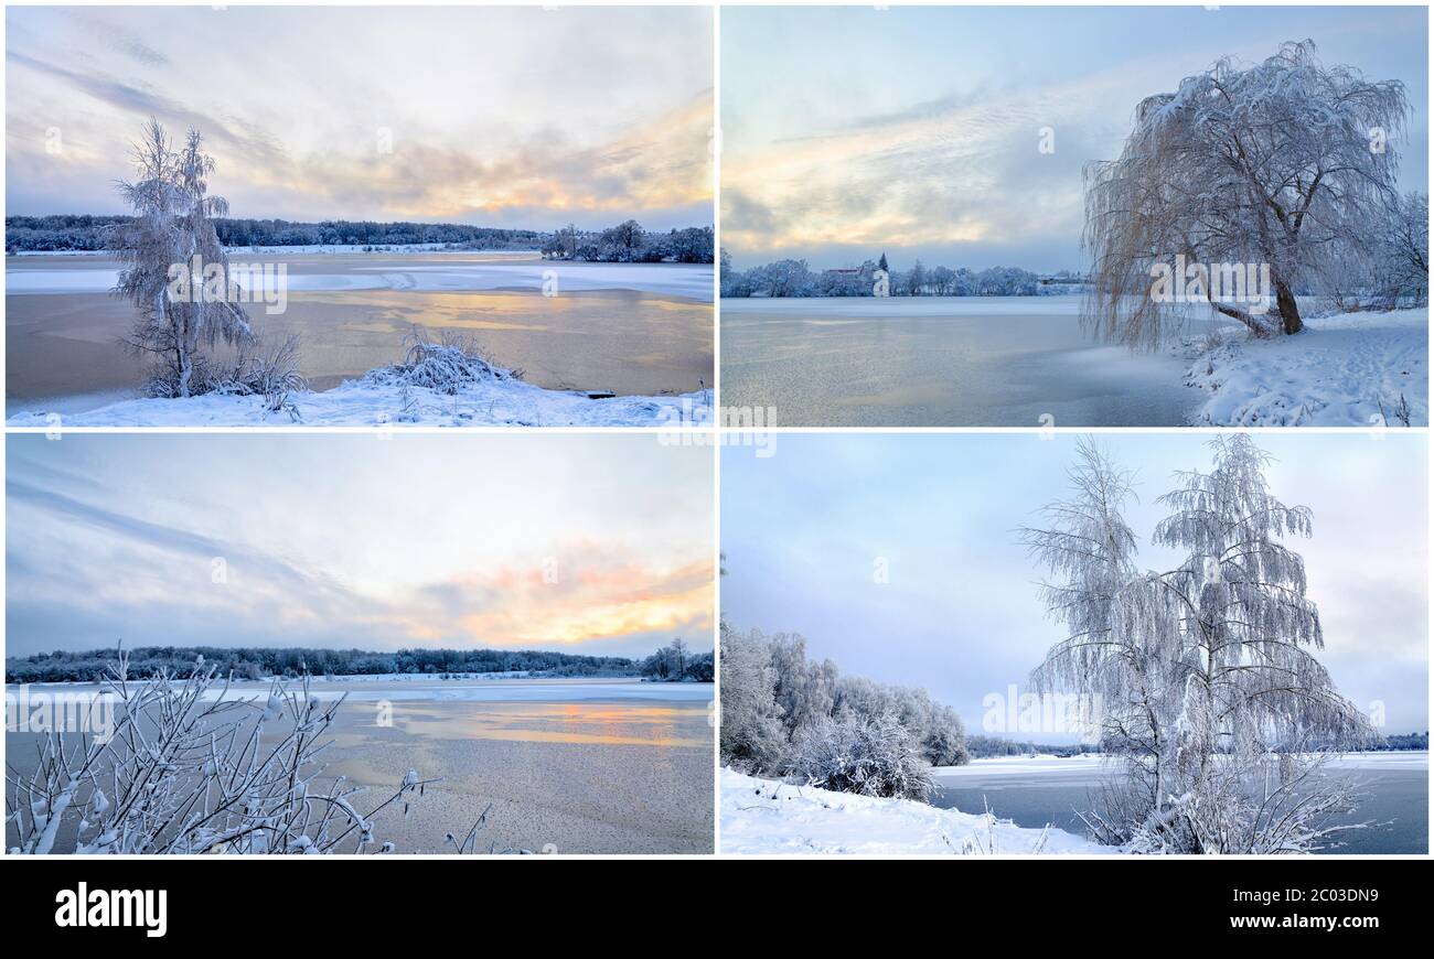
M 442 777 L 407 816 L 376 819 L 380 841 L 400 853 L 443 851 L 443 834 L 466 833 L 489 803 L 485 850 L 710 853 L 713 690 L 637 679 L 315 679 L 320 698 L 348 694 L 324 735 L 333 745 L 320 780 L 344 776 L 376 803 L 410 768 Z M 267 691 L 245 682 L 229 697 L 262 701 Z M 379 718 L 386 704 L 389 725 Z M 6 734 L 7 760 L 22 774 L 34 740 Z

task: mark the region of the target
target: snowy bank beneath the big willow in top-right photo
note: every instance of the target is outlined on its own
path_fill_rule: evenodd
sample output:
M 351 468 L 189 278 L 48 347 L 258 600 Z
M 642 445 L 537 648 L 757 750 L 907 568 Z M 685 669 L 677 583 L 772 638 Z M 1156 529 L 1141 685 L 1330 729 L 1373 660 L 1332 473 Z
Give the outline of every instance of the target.
M 1186 383 L 1207 396 L 1196 426 L 1428 426 L 1428 308 L 1309 320 L 1293 337 L 1230 335 Z M 1382 409 L 1381 409 L 1382 407 Z

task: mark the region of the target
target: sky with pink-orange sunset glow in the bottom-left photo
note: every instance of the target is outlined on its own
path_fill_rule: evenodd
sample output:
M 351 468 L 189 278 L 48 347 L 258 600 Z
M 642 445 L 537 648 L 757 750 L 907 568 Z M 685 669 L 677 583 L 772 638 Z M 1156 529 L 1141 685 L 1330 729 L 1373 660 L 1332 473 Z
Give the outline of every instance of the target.
M 6 449 L 11 655 L 118 639 L 711 648 L 710 449 L 153 433 Z

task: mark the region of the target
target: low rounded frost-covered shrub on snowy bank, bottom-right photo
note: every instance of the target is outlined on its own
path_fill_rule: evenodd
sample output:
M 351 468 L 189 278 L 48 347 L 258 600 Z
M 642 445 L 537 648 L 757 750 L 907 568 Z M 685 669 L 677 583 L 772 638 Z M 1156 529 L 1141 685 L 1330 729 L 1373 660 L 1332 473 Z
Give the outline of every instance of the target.
M 922 801 L 935 788 L 921 745 L 891 712 L 822 717 L 792 745 L 789 773 L 819 788 Z

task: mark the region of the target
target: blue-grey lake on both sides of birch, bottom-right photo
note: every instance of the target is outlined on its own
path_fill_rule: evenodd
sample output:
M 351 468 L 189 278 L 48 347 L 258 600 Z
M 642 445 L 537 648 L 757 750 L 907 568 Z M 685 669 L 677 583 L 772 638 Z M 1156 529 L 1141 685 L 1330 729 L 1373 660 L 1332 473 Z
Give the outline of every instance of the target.
M 1374 820 L 1378 827 L 1347 833 L 1336 853 L 1428 851 L 1428 753 L 1365 753 L 1341 757 L 1329 776 L 1354 777 L 1368 797 L 1347 821 Z M 1108 771 L 1098 758 L 997 758 L 936 771 L 932 806 L 979 813 L 989 804 L 1017 826 L 1086 834 L 1076 810 L 1091 807 L 1091 794 Z M 1387 823 L 1387 824 L 1385 824 Z

